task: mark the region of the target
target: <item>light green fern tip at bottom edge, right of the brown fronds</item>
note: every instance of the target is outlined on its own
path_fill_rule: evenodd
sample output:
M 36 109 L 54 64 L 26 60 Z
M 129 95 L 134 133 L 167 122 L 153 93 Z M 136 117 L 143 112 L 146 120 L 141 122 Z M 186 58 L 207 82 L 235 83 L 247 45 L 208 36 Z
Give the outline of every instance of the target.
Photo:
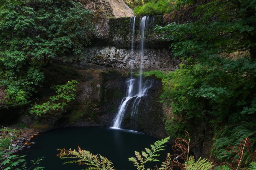
M 212 162 L 210 162 L 208 159 L 202 159 L 200 157 L 197 161 L 195 161 L 193 156 L 188 158 L 188 161 L 184 163 L 184 166 L 187 170 L 209 170 L 213 167 Z

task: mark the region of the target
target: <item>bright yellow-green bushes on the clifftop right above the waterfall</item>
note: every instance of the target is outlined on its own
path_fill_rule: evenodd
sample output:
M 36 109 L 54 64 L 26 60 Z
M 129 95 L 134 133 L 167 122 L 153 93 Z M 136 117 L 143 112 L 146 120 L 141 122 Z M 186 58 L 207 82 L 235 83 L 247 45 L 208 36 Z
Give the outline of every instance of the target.
M 134 8 L 134 15 L 162 15 L 170 13 L 175 6 L 169 0 L 151 0 L 148 3 Z

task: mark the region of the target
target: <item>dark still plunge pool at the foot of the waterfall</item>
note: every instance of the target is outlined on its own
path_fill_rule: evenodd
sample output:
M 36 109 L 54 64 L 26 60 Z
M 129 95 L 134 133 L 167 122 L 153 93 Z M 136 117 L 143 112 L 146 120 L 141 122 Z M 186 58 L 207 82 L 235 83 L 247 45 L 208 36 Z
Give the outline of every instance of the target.
M 27 155 L 25 157 L 27 161 L 44 156 L 45 158 L 39 166 L 45 167 L 45 170 L 81 170 L 85 168 L 84 165 L 78 166 L 77 163 L 62 165 L 68 159 L 56 157 L 60 153 L 57 149 L 71 148 L 77 151 L 77 145 L 79 145 L 84 150 L 112 160 L 113 166 L 117 170 L 132 170 L 136 168 L 128 158 L 135 157 L 134 151 L 141 152 L 145 151 L 145 148 L 150 148 L 150 144 L 154 144 L 157 140 L 154 137 L 130 130 L 106 127 L 61 128 L 42 132 L 33 137 L 31 142 L 36 144 L 23 154 Z M 161 156 L 158 158 L 161 162 L 165 160 L 167 153 L 171 152 L 171 145 L 166 145 L 165 150 L 160 152 Z M 161 162 L 157 164 L 159 165 Z M 150 167 L 154 168 L 154 165 L 155 163 Z

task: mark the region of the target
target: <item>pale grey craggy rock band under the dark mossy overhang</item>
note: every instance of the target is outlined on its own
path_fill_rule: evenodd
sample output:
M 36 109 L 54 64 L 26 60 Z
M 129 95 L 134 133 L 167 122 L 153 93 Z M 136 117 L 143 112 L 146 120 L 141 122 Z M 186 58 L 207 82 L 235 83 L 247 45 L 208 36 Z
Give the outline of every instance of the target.
M 140 68 L 140 50 L 116 48 L 114 46 L 87 47 L 80 64 L 92 63 L 99 66 L 118 68 Z M 175 68 L 179 59 L 172 58 L 170 50 L 145 49 L 142 57 L 143 68 Z

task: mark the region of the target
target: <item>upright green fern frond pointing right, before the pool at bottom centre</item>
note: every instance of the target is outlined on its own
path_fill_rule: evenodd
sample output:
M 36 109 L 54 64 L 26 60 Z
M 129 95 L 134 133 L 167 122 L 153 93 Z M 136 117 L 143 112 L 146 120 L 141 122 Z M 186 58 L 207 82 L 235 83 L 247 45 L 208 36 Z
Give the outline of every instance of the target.
M 129 158 L 130 161 L 136 166 L 137 170 L 144 170 L 146 162 L 157 162 L 157 156 L 160 156 L 157 152 L 164 150 L 166 142 L 168 142 L 170 137 L 166 137 L 162 140 L 156 141 L 150 145 L 151 149 L 145 148 L 145 151 L 140 152 L 135 151 L 135 157 Z

